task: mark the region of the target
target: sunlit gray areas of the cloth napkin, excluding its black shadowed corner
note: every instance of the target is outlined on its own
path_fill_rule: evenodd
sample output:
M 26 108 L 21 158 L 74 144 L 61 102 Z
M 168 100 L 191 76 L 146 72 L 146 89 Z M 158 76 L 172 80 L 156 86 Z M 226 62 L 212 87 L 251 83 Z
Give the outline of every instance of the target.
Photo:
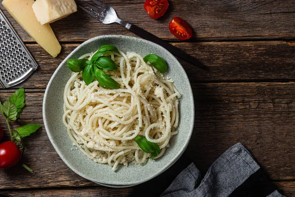
M 228 197 L 238 186 L 259 169 L 248 150 L 237 143 L 223 153 L 201 180 L 195 164 L 185 168 L 161 197 Z M 283 197 L 278 192 L 273 196 Z

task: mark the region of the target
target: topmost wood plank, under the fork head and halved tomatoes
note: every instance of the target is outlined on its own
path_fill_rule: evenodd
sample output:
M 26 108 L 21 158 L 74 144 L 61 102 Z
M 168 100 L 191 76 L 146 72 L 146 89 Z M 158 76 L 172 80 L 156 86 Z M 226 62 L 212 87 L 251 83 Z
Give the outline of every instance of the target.
M 177 40 L 168 29 L 173 17 L 186 20 L 194 30 L 192 40 L 290 39 L 295 38 L 295 0 L 169 0 L 169 9 L 160 19 L 149 18 L 144 0 L 109 0 L 118 16 L 164 39 Z M 77 0 L 78 5 L 82 5 Z M 8 15 L 24 41 L 33 39 Z M 84 41 L 105 34 L 134 35 L 118 24 L 104 25 L 83 12 L 52 24 L 59 41 Z

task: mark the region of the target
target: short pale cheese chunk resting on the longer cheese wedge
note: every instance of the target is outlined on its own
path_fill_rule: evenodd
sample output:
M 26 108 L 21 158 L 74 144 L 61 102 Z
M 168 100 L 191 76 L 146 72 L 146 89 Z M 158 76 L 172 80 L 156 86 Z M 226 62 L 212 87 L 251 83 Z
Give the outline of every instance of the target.
M 53 23 L 77 11 L 75 0 L 36 0 L 32 8 L 41 25 Z

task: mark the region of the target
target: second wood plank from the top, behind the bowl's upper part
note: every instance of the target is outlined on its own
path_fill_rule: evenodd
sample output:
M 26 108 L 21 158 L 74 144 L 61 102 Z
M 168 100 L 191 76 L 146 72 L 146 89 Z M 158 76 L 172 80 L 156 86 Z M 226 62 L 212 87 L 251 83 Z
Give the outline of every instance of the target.
M 294 81 L 295 44 L 285 41 L 174 43 L 197 57 L 209 70 L 179 60 L 191 82 Z M 52 58 L 40 46 L 28 44 L 39 67 L 17 87 L 45 88 L 62 60 L 79 44 L 63 44 Z

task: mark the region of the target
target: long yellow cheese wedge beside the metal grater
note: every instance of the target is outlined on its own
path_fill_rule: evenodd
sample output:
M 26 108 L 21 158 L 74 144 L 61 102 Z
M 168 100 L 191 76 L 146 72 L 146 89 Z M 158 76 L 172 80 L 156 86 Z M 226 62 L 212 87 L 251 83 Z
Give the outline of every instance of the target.
M 61 46 L 50 25 L 41 25 L 33 12 L 34 0 L 3 0 L 2 4 L 11 16 L 53 57 L 60 53 Z

